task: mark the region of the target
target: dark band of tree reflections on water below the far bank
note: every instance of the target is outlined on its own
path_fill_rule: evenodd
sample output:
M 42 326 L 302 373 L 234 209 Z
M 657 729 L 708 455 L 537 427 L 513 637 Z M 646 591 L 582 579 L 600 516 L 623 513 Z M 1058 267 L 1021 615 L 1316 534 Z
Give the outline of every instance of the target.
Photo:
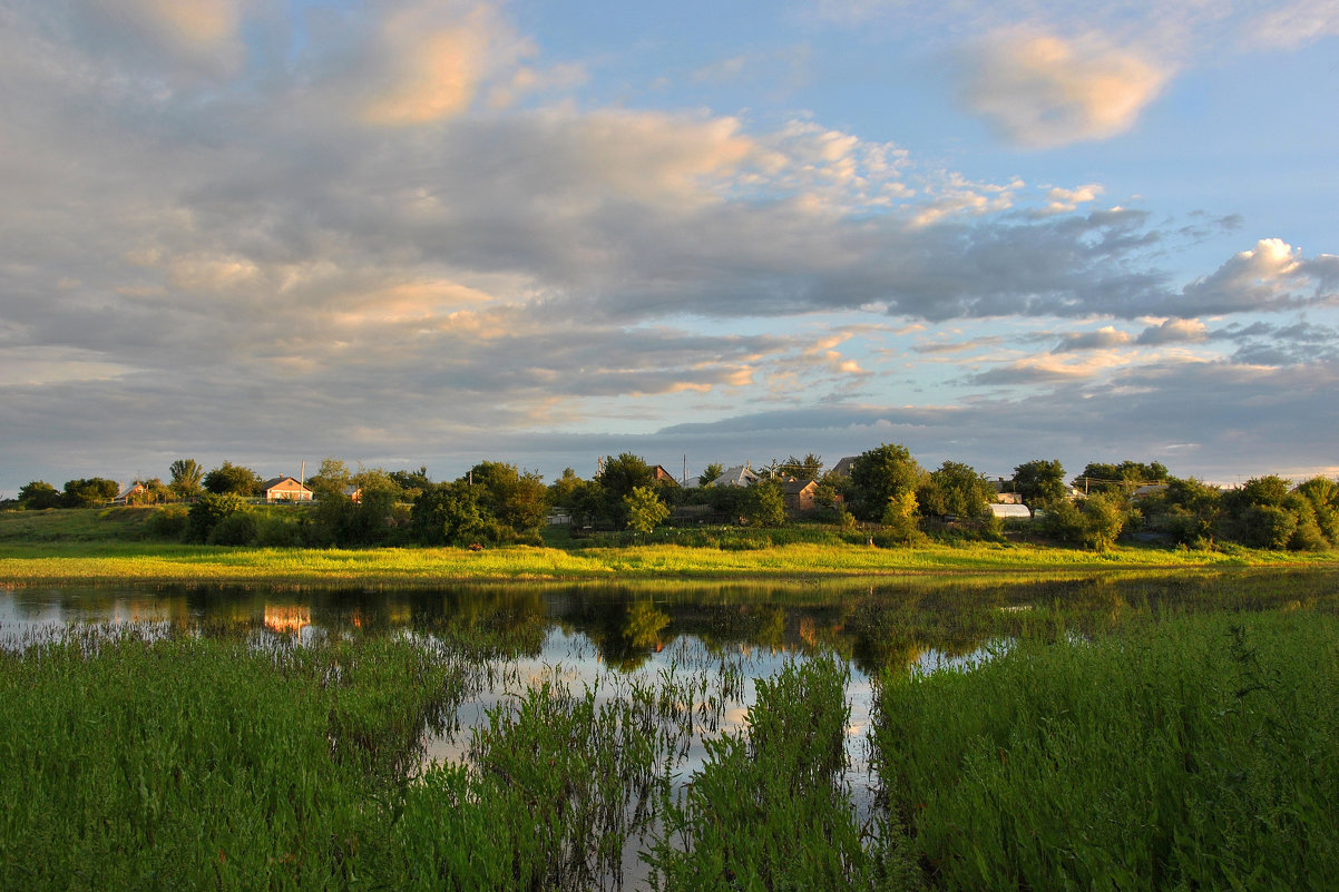
M 1335 604 L 1334 571 L 1103 573 L 1085 577 L 917 577 L 840 584 L 487 585 L 439 591 L 264 587 L 82 587 L 16 591 L 19 619 L 155 623 L 236 635 L 386 635 L 411 629 L 471 648 L 538 654 L 554 625 L 635 668 L 679 636 L 708 651 L 833 650 L 861 670 L 909 666 L 932 648 L 960 658 L 991 640 L 1094 638 L 1165 612 Z

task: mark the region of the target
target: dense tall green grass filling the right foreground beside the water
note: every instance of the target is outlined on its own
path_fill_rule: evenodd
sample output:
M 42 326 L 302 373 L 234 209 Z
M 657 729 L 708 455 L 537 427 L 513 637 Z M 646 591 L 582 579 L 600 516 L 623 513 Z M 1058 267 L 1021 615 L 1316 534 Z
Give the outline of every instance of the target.
M 877 751 L 941 889 L 1322 889 L 1339 619 L 1208 615 L 888 674 Z

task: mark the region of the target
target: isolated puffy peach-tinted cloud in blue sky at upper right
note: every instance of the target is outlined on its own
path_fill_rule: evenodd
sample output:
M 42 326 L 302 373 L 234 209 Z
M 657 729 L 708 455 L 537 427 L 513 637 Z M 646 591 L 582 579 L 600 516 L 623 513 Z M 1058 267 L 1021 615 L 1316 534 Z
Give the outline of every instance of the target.
M 1016 31 L 992 35 L 959 60 L 963 104 L 1030 149 L 1129 130 L 1170 75 L 1142 55 L 1095 38 Z

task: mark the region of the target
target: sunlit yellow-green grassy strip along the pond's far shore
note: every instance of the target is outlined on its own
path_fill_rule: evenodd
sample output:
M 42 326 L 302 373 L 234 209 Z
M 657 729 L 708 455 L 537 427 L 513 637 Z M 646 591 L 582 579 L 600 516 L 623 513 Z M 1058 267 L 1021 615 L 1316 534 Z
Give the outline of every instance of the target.
M 1018 573 L 1235 567 L 1339 567 L 1334 553 L 1232 548 L 1048 545 L 774 545 L 722 550 L 679 545 L 276 549 L 153 542 L 0 544 L 0 584 L 274 584 L 431 587 L 443 583 L 590 580 L 822 580 L 921 573 Z

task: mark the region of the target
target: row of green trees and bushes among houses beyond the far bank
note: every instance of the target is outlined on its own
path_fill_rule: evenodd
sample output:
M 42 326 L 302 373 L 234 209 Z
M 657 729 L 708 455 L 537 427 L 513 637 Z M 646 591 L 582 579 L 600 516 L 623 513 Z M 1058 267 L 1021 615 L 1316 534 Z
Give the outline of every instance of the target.
M 730 524 L 775 528 L 803 521 L 862 526 L 874 544 L 916 542 L 925 536 L 999 538 L 1003 521 L 992 502 L 1016 500 L 1035 518 L 1031 529 L 1054 541 L 1103 549 L 1118 537 L 1149 538 L 1192 548 L 1237 542 L 1252 548 L 1318 550 L 1339 545 L 1339 484 L 1315 477 L 1299 485 L 1276 475 L 1220 489 L 1193 477 L 1177 478 L 1158 462 L 1093 462 L 1066 481 L 1056 459 L 1035 459 L 1008 479 L 991 481 L 969 465 L 945 461 L 921 467 L 900 445 L 885 443 L 856 457 L 844 473 L 807 454 L 749 471 L 749 486 L 686 488 L 631 453 L 601 462 L 582 479 L 569 467 L 545 485 L 533 471 L 485 461 L 453 481 L 432 481 L 427 469 L 383 470 L 327 458 L 305 485 L 315 504 L 304 510 L 257 509 L 250 469 L 224 462 L 205 471 L 178 459 L 170 478 L 137 481 L 130 502 L 166 504 L 151 518 L 155 534 L 189 542 L 266 546 L 497 545 L 541 544 L 552 513 L 578 532 L 631 530 L 649 534 L 665 524 Z M 803 510 L 795 493 L 807 489 Z M 787 501 L 787 494 L 789 500 Z M 104 505 L 116 496 L 110 479 L 72 479 L 63 490 L 33 481 L 11 506 L 24 510 Z

